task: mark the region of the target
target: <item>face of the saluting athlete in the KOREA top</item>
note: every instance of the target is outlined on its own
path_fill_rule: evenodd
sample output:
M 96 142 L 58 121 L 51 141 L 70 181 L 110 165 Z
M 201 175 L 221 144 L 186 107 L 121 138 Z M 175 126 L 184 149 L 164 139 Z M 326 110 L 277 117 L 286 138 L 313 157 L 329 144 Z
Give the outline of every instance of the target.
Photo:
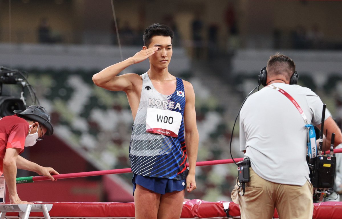
M 172 56 L 171 37 L 154 36 L 148 48 L 158 47 L 158 50 L 149 57 L 149 61 L 153 66 L 163 69 L 169 66 Z M 144 49 L 147 47 L 144 46 Z

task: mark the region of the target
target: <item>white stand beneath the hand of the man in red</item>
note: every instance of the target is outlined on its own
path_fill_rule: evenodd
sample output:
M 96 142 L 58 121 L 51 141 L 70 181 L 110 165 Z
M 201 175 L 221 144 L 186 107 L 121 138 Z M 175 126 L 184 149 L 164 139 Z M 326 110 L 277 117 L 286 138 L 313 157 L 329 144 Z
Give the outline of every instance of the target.
M 4 219 L 6 212 L 19 212 L 21 219 L 28 219 L 30 212 L 43 212 L 45 219 L 51 219 L 49 211 L 52 204 L 17 204 L 17 205 L 0 205 L 0 219 Z

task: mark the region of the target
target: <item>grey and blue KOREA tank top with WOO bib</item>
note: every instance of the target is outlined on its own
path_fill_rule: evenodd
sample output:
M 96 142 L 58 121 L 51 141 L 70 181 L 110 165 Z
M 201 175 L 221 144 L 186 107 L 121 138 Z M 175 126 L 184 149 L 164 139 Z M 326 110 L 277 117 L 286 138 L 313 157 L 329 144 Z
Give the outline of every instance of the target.
M 185 93 L 183 81 L 176 78 L 171 95 L 160 94 L 142 75 L 143 86 L 130 141 L 129 159 L 134 174 L 185 179 L 186 147 L 184 138 Z

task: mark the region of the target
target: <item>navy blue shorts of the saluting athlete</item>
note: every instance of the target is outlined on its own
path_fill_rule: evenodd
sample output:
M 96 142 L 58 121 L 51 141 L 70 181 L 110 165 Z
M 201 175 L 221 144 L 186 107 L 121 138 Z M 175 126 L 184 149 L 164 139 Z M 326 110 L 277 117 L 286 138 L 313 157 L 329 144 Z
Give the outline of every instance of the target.
M 135 191 L 136 184 L 151 190 L 155 193 L 165 194 L 168 192 L 182 191 L 186 188 L 185 179 L 167 179 L 167 178 L 156 178 L 141 175 L 133 175 L 133 195 Z

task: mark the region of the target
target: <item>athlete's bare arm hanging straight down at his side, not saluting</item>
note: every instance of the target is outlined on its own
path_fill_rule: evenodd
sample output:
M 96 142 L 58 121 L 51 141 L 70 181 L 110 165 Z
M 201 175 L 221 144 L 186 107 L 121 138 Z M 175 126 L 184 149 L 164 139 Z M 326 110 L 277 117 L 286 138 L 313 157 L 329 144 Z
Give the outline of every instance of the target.
M 183 81 L 183 83 L 186 98 L 184 109 L 185 144 L 189 161 L 189 173 L 186 177 L 186 190 L 191 192 L 196 189 L 195 168 L 199 136 L 196 124 L 194 88 L 192 84 L 187 81 Z

